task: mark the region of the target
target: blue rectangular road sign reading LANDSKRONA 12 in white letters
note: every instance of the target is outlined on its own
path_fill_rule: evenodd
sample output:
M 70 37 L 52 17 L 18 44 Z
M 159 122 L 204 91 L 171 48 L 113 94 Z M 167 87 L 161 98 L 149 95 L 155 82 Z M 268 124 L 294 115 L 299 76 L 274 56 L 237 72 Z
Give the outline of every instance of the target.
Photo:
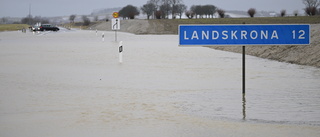
M 310 25 L 180 25 L 180 46 L 308 45 Z

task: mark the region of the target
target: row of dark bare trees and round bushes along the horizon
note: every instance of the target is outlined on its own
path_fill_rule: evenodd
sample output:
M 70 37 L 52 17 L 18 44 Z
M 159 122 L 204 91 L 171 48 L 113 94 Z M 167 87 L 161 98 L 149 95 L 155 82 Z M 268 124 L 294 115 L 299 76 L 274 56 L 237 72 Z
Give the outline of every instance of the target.
M 320 15 L 320 0 L 302 0 L 306 8 L 304 9 L 305 14 L 308 16 Z M 192 18 L 214 18 L 217 13 L 220 18 L 225 17 L 225 11 L 217 8 L 214 5 L 193 5 L 187 10 L 187 6 L 183 4 L 182 0 L 149 0 L 146 4 L 140 7 L 143 14 L 147 15 L 147 19 L 168 19 L 171 15 L 172 19 L 176 19 L 177 16 L 181 19 L 182 15 L 185 14 L 189 19 Z M 139 8 L 128 5 L 122 8 L 120 16 L 124 19 L 134 19 L 136 15 L 139 15 Z M 247 11 L 250 17 L 254 17 L 256 14 L 255 8 L 250 8 Z M 281 17 L 286 15 L 286 10 L 281 10 Z M 298 15 L 298 11 L 294 11 L 294 15 Z

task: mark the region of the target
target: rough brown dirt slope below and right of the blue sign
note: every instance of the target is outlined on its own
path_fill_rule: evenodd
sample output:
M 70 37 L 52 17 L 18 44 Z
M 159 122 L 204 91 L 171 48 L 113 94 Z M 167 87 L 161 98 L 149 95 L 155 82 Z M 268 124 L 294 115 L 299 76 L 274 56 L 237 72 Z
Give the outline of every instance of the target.
M 242 47 L 211 47 L 242 53 Z M 308 46 L 247 46 L 246 54 L 266 59 L 320 68 L 320 24 L 311 24 L 311 43 Z

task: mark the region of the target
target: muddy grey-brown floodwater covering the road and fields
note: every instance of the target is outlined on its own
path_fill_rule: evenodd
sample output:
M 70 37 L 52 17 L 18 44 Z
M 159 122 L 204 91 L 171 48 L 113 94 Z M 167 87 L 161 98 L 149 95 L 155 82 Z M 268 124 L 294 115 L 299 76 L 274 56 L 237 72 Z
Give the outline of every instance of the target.
M 320 69 L 177 35 L 0 33 L 0 136 L 319 136 Z

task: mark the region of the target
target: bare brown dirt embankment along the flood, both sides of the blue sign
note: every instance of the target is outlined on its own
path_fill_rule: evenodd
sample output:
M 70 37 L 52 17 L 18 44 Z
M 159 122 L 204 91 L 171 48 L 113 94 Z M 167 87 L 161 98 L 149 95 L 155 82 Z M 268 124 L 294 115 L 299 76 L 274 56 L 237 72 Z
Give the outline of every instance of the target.
M 121 31 L 134 34 L 177 34 L 180 23 L 170 20 L 121 20 Z M 111 31 L 111 22 L 91 26 L 92 29 Z M 211 47 L 241 53 L 241 47 Z M 308 65 L 320 68 L 320 24 L 311 24 L 309 46 L 247 46 L 246 54 L 261 58 Z

